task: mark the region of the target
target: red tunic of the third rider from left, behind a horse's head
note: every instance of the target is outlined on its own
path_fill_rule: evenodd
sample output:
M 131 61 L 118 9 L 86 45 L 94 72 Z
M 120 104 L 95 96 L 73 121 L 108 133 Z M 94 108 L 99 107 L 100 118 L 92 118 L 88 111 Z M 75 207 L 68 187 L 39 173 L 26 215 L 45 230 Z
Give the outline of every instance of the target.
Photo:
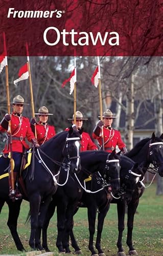
M 69 128 L 66 128 L 65 131 L 68 131 L 68 129 Z M 88 133 L 82 132 L 81 138 L 81 152 L 86 150 L 98 150 L 98 147 L 92 142 Z

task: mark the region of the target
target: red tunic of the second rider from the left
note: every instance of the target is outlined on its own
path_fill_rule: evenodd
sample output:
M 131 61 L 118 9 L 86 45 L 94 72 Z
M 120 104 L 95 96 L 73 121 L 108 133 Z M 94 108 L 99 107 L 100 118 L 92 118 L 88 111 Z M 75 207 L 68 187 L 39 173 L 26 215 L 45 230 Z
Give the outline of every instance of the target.
M 41 122 L 36 123 L 36 133 L 39 145 L 42 145 L 45 141 L 56 135 L 53 125 L 48 123 L 42 124 Z

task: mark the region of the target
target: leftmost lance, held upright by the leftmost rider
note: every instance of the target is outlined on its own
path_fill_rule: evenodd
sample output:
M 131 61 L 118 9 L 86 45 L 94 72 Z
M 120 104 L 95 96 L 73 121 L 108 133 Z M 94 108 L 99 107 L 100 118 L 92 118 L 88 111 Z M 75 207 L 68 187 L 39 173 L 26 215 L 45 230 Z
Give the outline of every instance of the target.
M 6 36 L 5 32 L 3 33 L 4 36 L 4 50 L 5 50 L 5 59 L 6 59 L 6 92 L 7 92 L 7 107 L 8 107 L 8 114 L 10 115 L 10 96 L 9 96 L 9 75 L 8 75 L 8 62 L 7 62 L 7 47 L 6 47 Z M 9 121 L 8 127 L 8 134 L 9 134 L 9 144 L 10 144 L 10 167 L 11 167 L 11 188 L 12 194 L 15 194 L 14 190 L 14 168 L 13 168 L 13 156 L 12 156 L 12 136 L 11 136 L 11 121 Z

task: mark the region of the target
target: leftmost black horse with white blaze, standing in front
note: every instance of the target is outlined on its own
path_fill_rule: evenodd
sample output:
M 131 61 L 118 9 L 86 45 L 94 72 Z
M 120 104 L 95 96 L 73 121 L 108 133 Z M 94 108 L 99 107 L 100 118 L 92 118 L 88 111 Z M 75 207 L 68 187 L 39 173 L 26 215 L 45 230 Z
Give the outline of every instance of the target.
M 52 195 L 57 190 L 57 180 L 61 169 L 80 169 L 79 156 L 79 132 L 69 129 L 68 132 L 61 132 L 34 153 L 33 161 L 27 169 L 22 172 L 24 178 L 28 201 L 31 212 L 31 236 L 29 244 L 35 249 L 35 233 L 43 225 L 46 210 L 51 201 Z M 22 200 L 12 202 L 9 199 L 8 185 L 8 159 L 0 158 L 0 212 L 7 202 L 9 206 L 8 226 L 18 250 L 24 250 L 17 234 L 17 218 L 19 215 Z M 4 172 L 4 170 L 6 171 Z M 4 177 L 4 178 L 3 178 Z

